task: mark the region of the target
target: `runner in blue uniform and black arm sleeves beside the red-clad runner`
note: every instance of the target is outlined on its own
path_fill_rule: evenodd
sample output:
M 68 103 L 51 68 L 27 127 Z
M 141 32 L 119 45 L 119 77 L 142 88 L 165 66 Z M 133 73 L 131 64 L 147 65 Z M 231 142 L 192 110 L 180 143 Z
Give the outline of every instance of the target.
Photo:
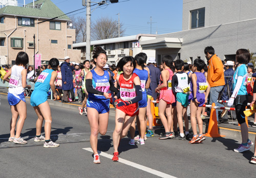
M 87 117 L 91 127 L 90 143 L 94 153 L 94 163 L 100 163 L 97 151 L 98 133 L 106 134 L 108 129 L 110 98 L 108 91 L 118 90 L 110 79 L 110 72 L 103 69 L 108 61 L 106 52 L 101 47 L 93 50 L 93 59 L 96 67 L 86 75 L 86 89 L 88 92 Z

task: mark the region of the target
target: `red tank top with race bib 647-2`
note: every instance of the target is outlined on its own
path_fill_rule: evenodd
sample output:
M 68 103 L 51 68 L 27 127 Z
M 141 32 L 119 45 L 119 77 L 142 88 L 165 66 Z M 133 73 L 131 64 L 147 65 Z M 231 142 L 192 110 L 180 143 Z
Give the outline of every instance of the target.
M 137 96 L 136 89 L 134 86 L 134 78 L 136 78 L 138 75 L 136 73 L 133 73 L 131 79 L 128 81 L 125 81 L 123 78 L 123 73 L 120 74 L 119 77 L 119 86 L 120 86 L 120 96 L 123 101 L 132 100 Z

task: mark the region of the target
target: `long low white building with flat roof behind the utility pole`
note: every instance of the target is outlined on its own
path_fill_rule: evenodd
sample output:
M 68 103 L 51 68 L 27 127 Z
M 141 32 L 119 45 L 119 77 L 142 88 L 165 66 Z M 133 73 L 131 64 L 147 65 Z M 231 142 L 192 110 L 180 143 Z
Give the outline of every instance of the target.
M 155 58 L 155 49 L 144 50 L 140 43 L 145 40 L 155 39 L 156 35 L 138 34 L 133 36 L 111 38 L 104 40 L 91 41 L 92 48 L 101 46 L 106 50 L 109 64 L 117 64 L 118 60 L 125 56 L 133 56 L 143 52 L 147 58 Z M 81 59 L 86 59 L 86 42 L 73 44 L 76 49 L 81 49 Z M 92 58 L 92 55 L 91 55 Z

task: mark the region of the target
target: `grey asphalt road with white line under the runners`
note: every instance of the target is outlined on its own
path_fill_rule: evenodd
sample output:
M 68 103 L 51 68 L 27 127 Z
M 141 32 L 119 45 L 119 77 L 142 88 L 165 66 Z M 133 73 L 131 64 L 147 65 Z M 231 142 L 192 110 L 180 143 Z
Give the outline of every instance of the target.
M 253 148 L 244 153 L 234 152 L 241 138 L 232 135 L 188 144 L 181 140 L 159 140 L 163 130 L 155 130 L 155 137 L 148 138 L 145 145 L 131 146 L 129 138 L 123 138 L 119 146 L 119 158 L 123 160 L 112 162 L 114 109 L 110 112 L 108 132 L 98 137 L 101 164 L 95 165 L 89 151 L 87 116 L 56 106 L 51 106 L 51 111 L 51 139 L 60 146 L 44 148 L 43 142 L 34 142 L 37 117 L 29 102 L 22 131 L 28 144 L 17 145 L 8 142 L 11 111 L 7 97 L 1 95 L 0 177 L 255 177 L 256 165 L 249 163 Z

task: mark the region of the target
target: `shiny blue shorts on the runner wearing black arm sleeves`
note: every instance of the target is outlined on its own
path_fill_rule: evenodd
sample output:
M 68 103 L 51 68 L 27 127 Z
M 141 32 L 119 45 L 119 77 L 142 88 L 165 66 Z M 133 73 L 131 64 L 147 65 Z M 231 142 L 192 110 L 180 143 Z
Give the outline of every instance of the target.
M 87 99 L 87 107 L 94 108 L 99 114 L 104 114 L 110 111 L 110 99 L 93 100 L 90 97 Z

